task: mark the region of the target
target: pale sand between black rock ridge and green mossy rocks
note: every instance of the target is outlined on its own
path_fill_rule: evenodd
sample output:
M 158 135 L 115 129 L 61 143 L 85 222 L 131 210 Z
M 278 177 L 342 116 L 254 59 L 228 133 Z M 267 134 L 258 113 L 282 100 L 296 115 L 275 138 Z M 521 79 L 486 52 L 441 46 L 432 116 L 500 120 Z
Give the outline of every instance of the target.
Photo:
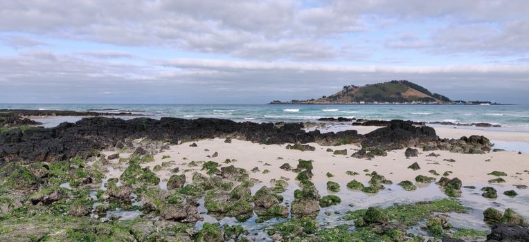
M 447 131 L 443 130 L 441 132 Z M 268 185 L 269 180 L 272 178 L 280 178 L 281 176 L 290 178 L 290 182 L 293 182 L 296 174 L 292 171 L 284 171 L 279 167 L 285 162 L 288 162 L 292 167 L 296 167 L 298 159 L 314 160 L 314 178 L 312 180 L 314 182 L 324 183 L 328 180 L 333 180 L 338 183 L 348 183 L 352 179 L 367 183 L 370 177 L 366 176 L 366 173 L 370 173 L 371 171 L 377 171 L 378 174 L 386 176 L 389 180 L 393 180 L 394 183 L 399 183 L 402 180 L 415 182 L 414 178 L 418 175 L 431 176 L 438 180 L 440 176 L 430 174 L 429 170 L 431 169 L 436 170 L 440 175 L 445 171 L 453 171 L 454 173 L 449 178 L 460 178 L 463 180 L 463 185 L 487 183 L 487 180 L 496 178 L 496 176 L 487 175 L 495 170 L 504 171 L 508 174 L 508 176 L 503 177 L 506 183 L 501 183 L 501 185 L 527 184 L 527 180 L 529 180 L 529 174 L 524 172 L 524 170 L 529 170 L 529 154 L 524 153 L 519 155 L 512 151 L 490 152 L 481 155 L 434 151 L 440 154 L 440 156 L 437 158 L 427 157 L 426 155 L 431 152 L 422 152 L 418 157 L 406 159 L 404 150 L 397 150 L 389 151 L 388 156 L 377 156 L 373 160 L 367 160 L 350 157 L 355 150 L 359 149 L 355 145 L 323 147 L 317 144 L 310 144 L 316 147 L 316 151 L 298 151 L 285 149 L 285 145 L 259 145 L 235 139 L 231 144 L 226 144 L 221 139 L 201 140 L 196 143 L 198 147 L 189 147 L 190 143 L 173 145 L 170 147 L 170 150 L 157 153 L 154 156 L 154 162 L 143 164 L 142 166 L 152 168 L 154 165 L 161 165 L 164 161 L 174 160 L 174 165 L 165 167 L 161 171 L 156 171 L 156 174 L 165 180 L 171 174 L 170 169 L 175 167 L 179 167 L 179 174 L 186 169 L 193 169 L 186 173 L 188 174 L 189 180 L 193 171 L 199 171 L 201 169 L 201 166 L 189 167 L 189 162 L 192 160 L 213 160 L 223 166 L 235 165 L 235 167 L 244 168 L 249 172 L 251 178 L 262 180 L 264 185 Z M 348 149 L 348 155 L 333 155 L 332 152 L 325 151 L 327 148 Z M 204 151 L 204 149 L 208 149 L 209 151 Z M 215 151 L 219 153 L 218 157 L 206 157 Z M 109 154 L 113 152 L 105 153 Z M 127 154 L 122 155 L 122 157 L 126 156 Z M 162 160 L 162 156 L 170 156 L 170 158 Z M 283 158 L 283 160 L 279 160 L 278 157 Z M 226 159 L 236 159 L 237 162 L 224 164 L 223 162 Z M 454 159 L 456 162 L 448 162 L 444 159 Z M 116 164 L 117 160 L 112 160 L 111 162 Z M 407 167 L 413 162 L 418 162 L 421 169 L 418 171 L 408 169 Z M 265 165 L 265 163 L 270 164 L 270 166 Z M 119 167 L 123 171 L 126 164 L 116 165 L 116 167 Z M 260 171 L 257 173 L 251 172 L 250 170 L 253 167 L 258 167 Z M 271 172 L 269 174 L 262 174 L 262 171 L 265 169 Z M 366 172 L 364 169 L 368 169 L 369 171 Z M 346 171 L 356 171 L 359 175 L 348 176 L 346 175 Z M 334 177 L 328 178 L 325 175 L 327 172 L 333 174 Z

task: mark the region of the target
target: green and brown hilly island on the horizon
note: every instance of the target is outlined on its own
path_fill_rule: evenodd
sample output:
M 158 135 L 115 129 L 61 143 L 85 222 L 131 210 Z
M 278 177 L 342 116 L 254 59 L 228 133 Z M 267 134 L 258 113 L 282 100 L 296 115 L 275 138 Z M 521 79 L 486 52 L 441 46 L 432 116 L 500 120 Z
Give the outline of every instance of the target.
M 355 102 L 451 102 L 448 97 L 431 93 L 428 89 L 406 80 L 367 84 L 366 86 L 343 86 L 343 89 L 329 96 L 311 100 L 274 101 L 271 104 L 332 104 Z

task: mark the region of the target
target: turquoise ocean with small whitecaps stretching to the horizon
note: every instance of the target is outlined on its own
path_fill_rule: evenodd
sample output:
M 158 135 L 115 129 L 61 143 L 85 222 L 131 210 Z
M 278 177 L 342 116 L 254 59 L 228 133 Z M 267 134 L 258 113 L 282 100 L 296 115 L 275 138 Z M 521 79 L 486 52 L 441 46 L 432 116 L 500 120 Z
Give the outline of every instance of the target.
M 529 105 L 267 105 L 267 104 L 0 104 L 0 109 L 132 112 L 151 118 L 226 118 L 237 122 L 307 122 L 325 117 L 499 124 L 503 131 L 529 131 Z M 127 117 L 130 118 L 130 117 Z M 45 119 L 51 127 L 78 117 Z

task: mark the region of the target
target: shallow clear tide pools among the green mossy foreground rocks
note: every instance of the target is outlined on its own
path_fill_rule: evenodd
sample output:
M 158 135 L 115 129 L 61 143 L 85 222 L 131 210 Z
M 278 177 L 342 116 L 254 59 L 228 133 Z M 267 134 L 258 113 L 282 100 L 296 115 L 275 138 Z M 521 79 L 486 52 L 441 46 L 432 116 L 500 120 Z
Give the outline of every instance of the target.
M 116 169 L 109 169 L 112 171 L 112 174 L 117 173 Z M 354 177 L 351 178 L 351 180 Z M 329 192 L 326 189 L 326 183 L 315 183 L 314 185 L 319 190 L 321 196 L 328 194 L 334 194 L 341 198 L 341 203 L 339 205 L 334 205 L 330 207 L 322 207 L 319 214 L 316 216 L 317 221 L 321 227 L 335 227 L 337 225 L 348 224 L 353 225 L 354 221 L 345 221 L 343 216 L 346 215 L 348 211 L 360 210 L 371 206 L 377 207 L 388 207 L 395 203 L 415 203 L 418 201 L 435 201 L 442 198 L 447 198 L 447 196 L 442 192 L 442 190 L 435 183 L 430 183 L 427 185 L 418 185 L 418 189 L 415 191 L 406 191 L 402 189 L 399 185 L 393 181 L 393 185 L 385 185 L 386 188 L 379 191 L 377 194 L 366 194 L 364 192 L 350 190 L 346 187 L 346 183 L 339 183 L 341 189 L 339 192 Z M 105 183 L 107 183 L 107 178 L 102 180 L 100 189 L 106 189 Z M 294 180 L 289 180 L 288 187 L 285 188 L 285 192 L 281 195 L 285 198 L 282 205 L 287 205 L 294 201 L 294 190 L 299 189 L 298 183 Z M 166 182 L 161 182 L 159 187 L 166 189 Z M 263 185 L 270 187 L 269 183 L 258 183 L 251 188 L 252 194 L 258 191 Z M 365 184 L 366 185 L 366 184 Z M 510 185 L 492 185 L 487 183 L 474 183 L 474 184 L 463 184 L 465 186 L 474 185 L 476 189 L 462 188 L 462 196 L 457 198 L 458 201 L 463 203 L 466 207 L 471 208 L 467 214 L 457 214 L 450 213 L 450 223 L 457 228 L 467 228 L 474 230 L 490 230 L 484 221 L 483 221 L 483 210 L 487 207 L 495 207 L 498 210 L 505 210 L 506 208 L 511 208 L 514 211 L 518 212 L 522 216 L 529 217 L 529 189 L 517 189 L 516 187 Z M 69 184 L 64 183 L 62 187 L 68 187 Z M 481 196 L 481 187 L 494 187 L 498 191 L 498 198 L 489 199 Z M 503 195 L 503 192 L 507 190 L 514 190 L 519 195 L 515 197 L 509 197 Z M 95 198 L 94 189 L 91 192 L 91 196 L 94 200 Z M 132 194 L 133 205 L 141 206 L 143 203 L 141 201 L 136 201 L 136 195 Z M 260 241 L 271 241 L 269 236 L 266 233 L 266 228 L 274 225 L 276 223 L 281 223 L 290 218 L 272 218 L 264 223 L 255 223 L 255 219 L 258 218 L 256 214 L 253 214 L 251 218 L 248 218 L 246 221 L 237 221 L 233 217 L 219 217 L 216 214 L 208 214 L 206 207 L 204 207 L 204 197 L 199 199 L 199 206 L 197 210 L 203 221 L 195 223 L 195 230 L 200 230 L 204 223 L 220 223 L 228 225 L 241 225 L 245 230 L 249 230 L 249 237 L 258 239 Z M 94 207 L 98 203 L 94 204 Z M 329 215 L 325 212 L 330 212 Z M 107 212 L 106 218 L 111 216 L 120 217 L 119 220 L 131 220 L 137 216 L 141 216 L 143 213 L 140 210 L 114 210 Z M 157 218 L 154 218 L 157 219 Z M 422 223 L 419 225 L 413 226 L 409 229 L 409 232 L 420 235 L 427 235 L 427 232 L 424 232 L 420 229 Z

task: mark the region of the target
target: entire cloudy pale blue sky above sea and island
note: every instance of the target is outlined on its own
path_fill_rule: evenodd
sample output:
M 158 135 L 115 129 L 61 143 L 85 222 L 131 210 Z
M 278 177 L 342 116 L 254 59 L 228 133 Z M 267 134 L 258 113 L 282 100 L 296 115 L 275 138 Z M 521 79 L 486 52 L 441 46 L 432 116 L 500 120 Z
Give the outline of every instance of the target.
M 409 80 L 529 104 L 526 0 L 0 0 L 0 103 L 253 104 Z

